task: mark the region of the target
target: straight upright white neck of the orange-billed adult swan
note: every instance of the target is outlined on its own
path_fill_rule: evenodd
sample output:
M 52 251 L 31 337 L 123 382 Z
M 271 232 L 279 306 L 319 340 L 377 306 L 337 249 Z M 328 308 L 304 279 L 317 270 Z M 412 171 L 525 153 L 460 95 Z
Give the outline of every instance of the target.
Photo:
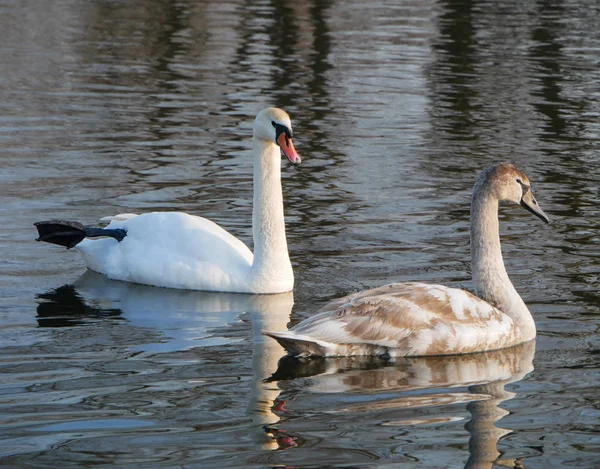
M 253 138 L 254 275 L 262 281 L 293 283 L 293 271 L 285 237 L 281 191 L 281 150 L 267 140 Z

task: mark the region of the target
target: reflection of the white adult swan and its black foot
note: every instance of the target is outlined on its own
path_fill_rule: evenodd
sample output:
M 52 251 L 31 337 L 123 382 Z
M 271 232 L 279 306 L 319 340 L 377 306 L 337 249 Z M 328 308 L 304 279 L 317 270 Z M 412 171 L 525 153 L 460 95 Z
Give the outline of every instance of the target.
M 266 379 L 285 352 L 261 331 L 286 329 L 294 304 L 291 292 L 247 295 L 175 290 L 119 282 L 87 271 L 73 284 L 42 293 L 38 299 L 42 300 L 37 308 L 41 327 L 77 326 L 96 318 L 124 321 L 148 329 L 143 336 L 148 342 L 137 342 L 129 349 L 149 355 L 240 343 L 247 335 L 232 326 L 249 317 L 253 336 L 247 406 L 250 433 L 258 449 L 279 448 L 270 425 L 279 421 L 272 407 L 281 391 L 277 383 L 267 383 Z M 240 370 L 231 372 L 235 375 Z

